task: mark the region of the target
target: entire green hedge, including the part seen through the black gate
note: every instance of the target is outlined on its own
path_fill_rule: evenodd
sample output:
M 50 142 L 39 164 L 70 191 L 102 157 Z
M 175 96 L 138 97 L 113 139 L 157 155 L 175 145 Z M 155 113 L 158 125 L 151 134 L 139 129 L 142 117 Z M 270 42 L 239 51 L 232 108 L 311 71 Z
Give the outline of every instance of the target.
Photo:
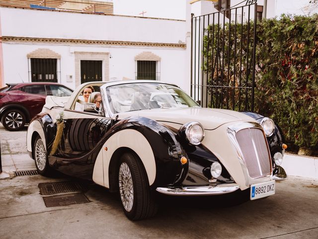
M 249 62 L 252 56 L 252 30 L 249 33 L 250 41 L 247 47 L 246 33 L 241 37 L 241 28 L 243 34 L 247 32 L 246 24 L 237 24 L 237 39 L 243 40 L 242 44 L 237 43 L 236 47 L 233 47 L 233 24 L 230 36 L 228 23 L 224 29 L 218 25 L 209 25 L 205 29 L 203 70 L 209 76 L 208 85 L 218 84 L 214 81 L 217 75 L 222 74 L 222 71 L 211 70 L 211 59 L 216 56 L 216 50 L 212 49 L 216 49 L 217 46 L 216 41 L 212 41 L 213 34 L 215 39 L 218 37 L 220 45 L 225 45 L 224 49 L 219 48 L 220 55 L 223 55 L 224 59 L 231 59 L 230 64 L 225 64 L 223 70 L 223 74 L 230 81 L 229 85 L 248 86 L 244 82 L 238 83 L 240 75 L 243 79 L 246 76 L 248 82 L 251 82 L 251 77 L 247 74 L 249 67 L 245 62 Z M 256 31 L 254 111 L 276 121 L 283 130 L 290 148 L 297 150 L 299 147 L 308 147 L 318 155 L 318 15 L 282 15 L 279 18 L 264 19 L 257 23 Z M 213 45 L 214 47 L 211 47 Z M 228 45 L 231 46 L 229 51 Z M 234 52 L 234 48 L 237 52 Z M 240 52 L 243 52 L 241 66 L 238 61 L 233 60 Z M 234 69 L 241 69 L 241 73 Z M 213 90 L 209 91 L 213 93 Z M 241 110 L 237 104 L 241 101 L 241 93 L 230 91 L 230 95 L 236 96 L 235 102 L 230 103 L 230 106 L 233 103 L 234 110 Z M 215 100 L 212 97 L 211 103 Z

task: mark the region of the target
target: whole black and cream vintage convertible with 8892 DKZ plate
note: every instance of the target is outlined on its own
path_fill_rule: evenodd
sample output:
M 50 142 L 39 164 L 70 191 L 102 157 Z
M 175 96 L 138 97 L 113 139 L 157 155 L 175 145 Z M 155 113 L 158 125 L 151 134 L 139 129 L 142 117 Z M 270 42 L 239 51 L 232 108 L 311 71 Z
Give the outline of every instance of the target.
M 98 93 L 79 100 L 87 86 L 101 94 L 98 111 Z M 275 180 L 287 178 L 283 140 L 272 119 L 201 108 L 173 84 L 89 82 L 70 97 L 47 97 L 27 150 L 42 175 L 59 170 L 119 191 L 126 216 L 140 220 L 156 214 L 158 192 L 273 195 Z

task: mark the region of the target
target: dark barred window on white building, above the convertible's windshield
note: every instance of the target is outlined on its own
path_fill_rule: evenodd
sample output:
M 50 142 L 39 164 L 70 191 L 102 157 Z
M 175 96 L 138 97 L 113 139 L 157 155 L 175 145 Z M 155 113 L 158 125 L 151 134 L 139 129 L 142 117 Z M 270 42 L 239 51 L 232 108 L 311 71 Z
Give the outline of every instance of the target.
M 158 61 L 136 61 L 136 80 L 159 80 Z

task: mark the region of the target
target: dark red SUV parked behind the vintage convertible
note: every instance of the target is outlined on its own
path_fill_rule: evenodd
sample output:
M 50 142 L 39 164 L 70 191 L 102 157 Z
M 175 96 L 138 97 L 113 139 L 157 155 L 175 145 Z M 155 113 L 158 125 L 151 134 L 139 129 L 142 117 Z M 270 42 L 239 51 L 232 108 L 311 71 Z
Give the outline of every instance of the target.
M 19 130 L 41 112 L 46 96 L 70 96 L 72 92 L 51 82 L 6 84 L 0 89 L 1 123 L 7 130 Z

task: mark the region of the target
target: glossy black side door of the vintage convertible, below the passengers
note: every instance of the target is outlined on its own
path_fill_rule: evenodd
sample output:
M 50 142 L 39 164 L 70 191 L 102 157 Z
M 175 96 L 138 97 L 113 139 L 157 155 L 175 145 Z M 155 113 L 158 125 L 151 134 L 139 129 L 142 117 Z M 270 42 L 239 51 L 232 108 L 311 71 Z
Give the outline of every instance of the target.
M 54 138 L 59 147 L 53 154 L 50 153 L 50 164 L 65 174 L 91 179 L 94 163 L 102 147 L 101 139 L 112 120 L 98 114 L 74 110 L 66 109 L 63 113 L 64 125 L 60 129 L 57 127 L 63 133 L 60 134 L 61 138 Z M 51 143 L 54 145 L 54 141 Z

